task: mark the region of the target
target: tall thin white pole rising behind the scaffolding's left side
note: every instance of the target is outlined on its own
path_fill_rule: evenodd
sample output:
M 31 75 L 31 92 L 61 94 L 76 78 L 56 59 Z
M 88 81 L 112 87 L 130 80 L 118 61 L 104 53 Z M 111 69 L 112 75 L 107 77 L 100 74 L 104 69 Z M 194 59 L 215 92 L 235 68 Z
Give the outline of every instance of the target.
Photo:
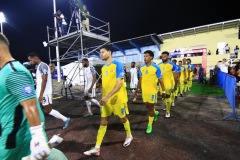
M 57 12 L 56 8 L 56 0 L 53 0 L 53 13 Z M 57 18 L 54 16 L 54 31 L 55 31 L 55 38 L 58 39 L 58 31 L 57 31 Z M 61 70 L 60 70 L 60 61 L 59 61 L 59 48 L 58 43 L 56 46 L 56 59 L 57 59 L 57 75 L 58 75 L 58 82 L 61 82 Z

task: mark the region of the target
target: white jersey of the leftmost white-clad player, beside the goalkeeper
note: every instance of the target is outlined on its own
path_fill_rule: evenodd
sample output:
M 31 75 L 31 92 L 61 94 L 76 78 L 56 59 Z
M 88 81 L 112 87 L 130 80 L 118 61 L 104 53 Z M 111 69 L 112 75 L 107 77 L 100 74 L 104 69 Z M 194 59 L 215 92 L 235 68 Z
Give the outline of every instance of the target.
M 41 92 L 41 86 L 42 86 L 42 75 L 47 74 L 47 84 L 45 87 L 45 91 L 43 93 L 43 95 L 51 95 L 52 94 L 52 75 L 51 75 L 51 70 L 49 68 L 49 66 L 44 63 L 41 62 L 38 66 L 37 66 L 37 71 L 36 71 L 36 94 L 37 97 L 40 96 L 40 92 Z

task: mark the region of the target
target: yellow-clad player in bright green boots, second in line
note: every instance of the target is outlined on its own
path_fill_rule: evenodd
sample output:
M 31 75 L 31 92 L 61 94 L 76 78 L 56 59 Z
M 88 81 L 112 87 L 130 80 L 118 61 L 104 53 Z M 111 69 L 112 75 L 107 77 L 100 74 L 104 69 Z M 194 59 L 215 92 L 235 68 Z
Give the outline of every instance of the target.
M 153 121 L 157 121 L 158 111 L 154 108 L 154 103 L 157 100 L 157 82 L 159 81 L 162 87 L 162 97 L 165 98 L 165 88 L 162 81 L 162 73 L 158 65 L 152 62 L 154 53 L 151 50 L 144 52 L 144 64 L 140 67 L 140 79 L 135 91 L 135 99 L 138 95 L 138 88 L 142 88 L 142 98 L 144 105 L 148 108 L 148 126 L 146 133 L 152 133 Z

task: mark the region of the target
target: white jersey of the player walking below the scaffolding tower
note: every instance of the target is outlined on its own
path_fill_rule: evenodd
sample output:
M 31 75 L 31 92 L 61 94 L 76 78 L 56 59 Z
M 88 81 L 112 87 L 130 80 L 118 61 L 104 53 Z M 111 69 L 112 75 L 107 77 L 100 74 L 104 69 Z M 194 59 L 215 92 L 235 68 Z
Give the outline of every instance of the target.
M 84 67 L 84 80 L 85 80 L 85 88 L 89 89 L 92 85 L 93 74 L 96 74 L 96 70 L 93 66 Z M 96 83 L 93 88 L 96 88 Z

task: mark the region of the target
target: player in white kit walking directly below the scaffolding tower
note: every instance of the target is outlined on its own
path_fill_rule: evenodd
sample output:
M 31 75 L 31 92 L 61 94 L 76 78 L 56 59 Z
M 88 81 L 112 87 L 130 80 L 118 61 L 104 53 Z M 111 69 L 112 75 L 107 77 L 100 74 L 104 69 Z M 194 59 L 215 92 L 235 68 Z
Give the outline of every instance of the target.
M 82 65 L 84 67 L 84 96 L 86 99 L 86 105 L 88 108 L 88 113 L 83 117 L 91 116 L 92 109 L 91 109 L 91 102 L 95 103 L 99 107 L 101 107 L 100 103 L 93 99 L 96 96 L 96 70 L 94 66 L 89 65 L 89 61 L 87 58 L 82 59 Z

